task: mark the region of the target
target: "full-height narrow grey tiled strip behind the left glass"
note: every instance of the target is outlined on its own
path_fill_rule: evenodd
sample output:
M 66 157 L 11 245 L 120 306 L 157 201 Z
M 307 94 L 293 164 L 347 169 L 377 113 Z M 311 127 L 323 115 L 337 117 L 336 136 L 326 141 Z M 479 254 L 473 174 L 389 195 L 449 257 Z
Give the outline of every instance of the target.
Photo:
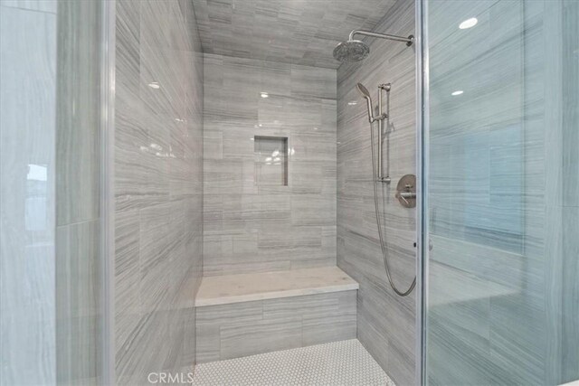
M 56 89 L 56 381 L 102 374 L 100 2 L 58 5 Z

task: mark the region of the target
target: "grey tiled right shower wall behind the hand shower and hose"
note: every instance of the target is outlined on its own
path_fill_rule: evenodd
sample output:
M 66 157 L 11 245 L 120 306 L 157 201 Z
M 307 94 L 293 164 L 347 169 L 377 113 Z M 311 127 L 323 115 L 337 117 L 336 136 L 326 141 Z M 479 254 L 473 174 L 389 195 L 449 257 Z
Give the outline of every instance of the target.
M 413 2 L 399 0 L 374 30 L 407 36 L 414 33 Z M 415 271 L 415 210 L 395 199 L 404 174 L 416 174 L 414 47 L 370 40 L 365 61 L 344 64 L 337 71 L 337 265 L 360 285 L 358 339 L 396 384 L 415 384 L 415 291 L 398 297 L 389 287 L 375 222 L 370 129 L 362 82 L 376 100 L 376 86 L 392 83 L 390 115 L 384 139 L 384 168 L 392 184 L 379 191 L 382 224 L 394 282 L 407 288 Z M 385 226 L 384 226 L 385 223 Z

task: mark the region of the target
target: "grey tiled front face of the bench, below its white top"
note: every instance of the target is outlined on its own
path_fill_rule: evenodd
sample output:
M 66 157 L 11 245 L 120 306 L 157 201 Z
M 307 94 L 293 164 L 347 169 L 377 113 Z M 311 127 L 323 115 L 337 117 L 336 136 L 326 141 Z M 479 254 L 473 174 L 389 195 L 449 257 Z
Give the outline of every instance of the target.
M 356 337 L 356 290 L 197 307 L 197 361 Z

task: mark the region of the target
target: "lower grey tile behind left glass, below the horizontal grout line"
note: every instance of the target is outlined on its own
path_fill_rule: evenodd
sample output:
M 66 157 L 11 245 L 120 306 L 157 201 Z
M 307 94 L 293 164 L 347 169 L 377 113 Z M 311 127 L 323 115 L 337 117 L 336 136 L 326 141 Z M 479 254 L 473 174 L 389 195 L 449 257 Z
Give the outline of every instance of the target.
M 100 264 L 100 220 L 56 228 L 58 383 L 90 384 L 101 374 Z

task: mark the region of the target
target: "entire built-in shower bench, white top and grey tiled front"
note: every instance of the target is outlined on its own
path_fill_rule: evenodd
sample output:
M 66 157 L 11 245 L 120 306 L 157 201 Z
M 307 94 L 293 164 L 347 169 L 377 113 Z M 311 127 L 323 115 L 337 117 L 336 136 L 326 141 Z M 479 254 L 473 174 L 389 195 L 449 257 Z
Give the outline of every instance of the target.
M 197 362 L 356 338 L 357 289 L 337 267 L 204 277 Z

